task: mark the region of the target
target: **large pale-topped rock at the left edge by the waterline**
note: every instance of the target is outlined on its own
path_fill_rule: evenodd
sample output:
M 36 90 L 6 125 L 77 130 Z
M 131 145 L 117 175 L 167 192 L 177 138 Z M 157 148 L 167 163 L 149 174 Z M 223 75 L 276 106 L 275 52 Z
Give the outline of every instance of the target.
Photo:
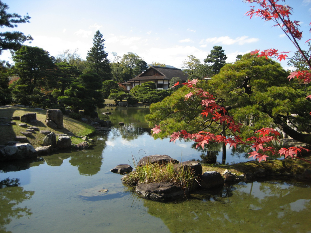
M 0 149 L 0 161 L 36 158 L 37 152 L 29 143 L 18 143 Z

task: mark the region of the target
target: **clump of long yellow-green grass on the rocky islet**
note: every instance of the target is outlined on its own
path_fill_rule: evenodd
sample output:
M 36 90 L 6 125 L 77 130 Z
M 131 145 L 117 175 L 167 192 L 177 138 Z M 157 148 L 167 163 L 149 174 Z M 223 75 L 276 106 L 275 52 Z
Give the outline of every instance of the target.
M 136 170 L 123 178 L 123 183 L 129 186 L 160 182 L 173 183 L 190 190 L 194 187 L 197 179 L 190 168 L 174 166 L 173 163 L 137 166 Z

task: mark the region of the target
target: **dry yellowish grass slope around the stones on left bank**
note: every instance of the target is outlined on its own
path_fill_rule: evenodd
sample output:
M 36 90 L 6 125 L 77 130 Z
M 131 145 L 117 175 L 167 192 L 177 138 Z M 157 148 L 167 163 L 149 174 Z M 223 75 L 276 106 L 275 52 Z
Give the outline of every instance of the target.
M 76 137 L 86 136 L 94 132 L 94 128 L 88 126 L 87 124 L 64 116 L 64 128 L 61 130 L 54 130 L 47 127 L 44 122 L 46 119 L 46 110 L 34 110 L 33 108 L 27 107 L 0 107 L 0 123 L 11 121 L 11 117 L 19 116 L 21 117 L 25 113 L 35 112 L 37 115 L 37 126 L 40 130 L 49 130 L 55 134 L 69 134 Z M 8 118 L 8 119 L 4 119 Z M 25 131 L 25 128 L 18 126 L 21 121 L 15 121 L 16 125 L 13 126 L 0 126 L 0 145 L 5 145 L 7 141 L 15 141 L 16 136 L 22 136 L 21 132 Z M 29 126 L 32 126 L 28 124 Z M 43 139 L 45 135 L 36 132 L 32 137 L 28 138 L 28 141 L 34 147 L 41 146 L 43 144 Z M 74 139 L 74 141 L 79 141 L 79 139 Z

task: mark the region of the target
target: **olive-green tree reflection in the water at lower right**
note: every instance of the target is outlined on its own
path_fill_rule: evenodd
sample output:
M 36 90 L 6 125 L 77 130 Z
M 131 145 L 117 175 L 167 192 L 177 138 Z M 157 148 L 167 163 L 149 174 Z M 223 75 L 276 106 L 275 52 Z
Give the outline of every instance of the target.
M 267 190 L 267 193 L 260 190 Z M 241 183 L 222 191 L 198 192 L 189 201 L 144 200 L 148 213 L 173 232 L 309 232 L 310 187 Z

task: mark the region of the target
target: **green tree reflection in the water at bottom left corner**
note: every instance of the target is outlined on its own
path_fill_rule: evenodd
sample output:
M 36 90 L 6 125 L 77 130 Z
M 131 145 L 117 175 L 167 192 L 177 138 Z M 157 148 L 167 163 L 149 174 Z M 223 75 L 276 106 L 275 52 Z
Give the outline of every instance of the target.
M 16 184 L 16 179 L 12 179 L 9 183 Z M 32 214 L 30 208 L 18 207 L 18 205 L 24 200 L 30 199 L 34 193 L 35 191 L 25 191 L 23 187 L 18 186 L 9 185 L 9 187 L 0 188 L 0 232 L 10 232 L 5 230 L 5 225 L 9 224 L 12 218 Z

